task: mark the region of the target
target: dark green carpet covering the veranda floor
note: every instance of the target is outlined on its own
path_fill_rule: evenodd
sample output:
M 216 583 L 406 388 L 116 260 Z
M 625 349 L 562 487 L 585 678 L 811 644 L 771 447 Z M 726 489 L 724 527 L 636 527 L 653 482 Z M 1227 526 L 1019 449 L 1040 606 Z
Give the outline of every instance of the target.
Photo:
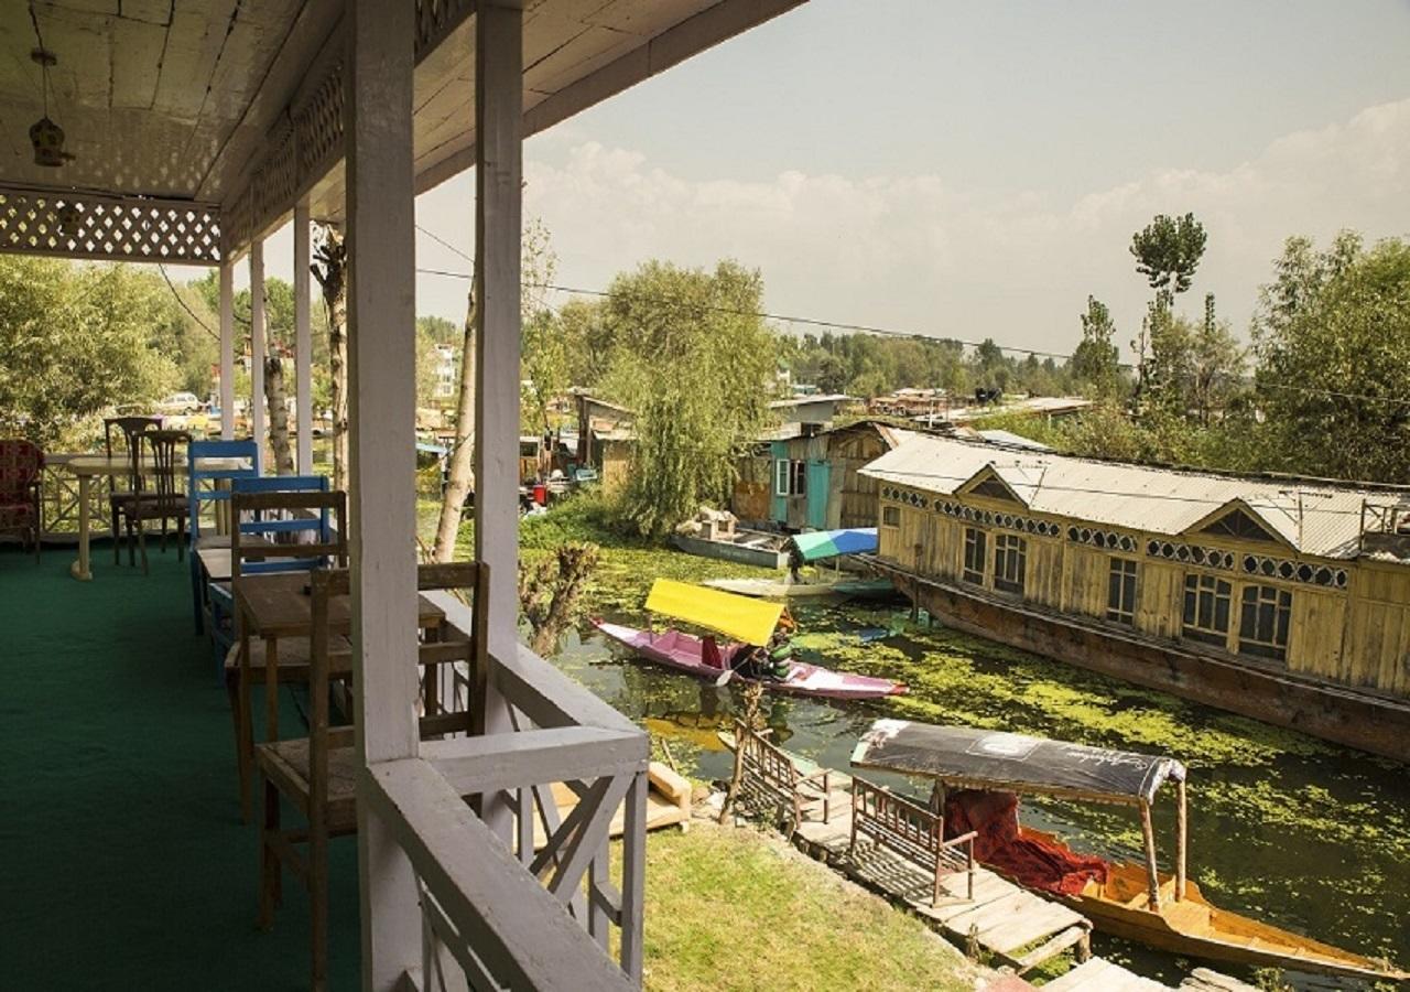
M 0 989 L 306 989 L 307 897 L 255 929 L 230 707 L 189 573 L 0 550 Z M 300 734 L 286 694 L 286 734 Z M 357 841 L 331 845 L 330 988 L 358 984 Z

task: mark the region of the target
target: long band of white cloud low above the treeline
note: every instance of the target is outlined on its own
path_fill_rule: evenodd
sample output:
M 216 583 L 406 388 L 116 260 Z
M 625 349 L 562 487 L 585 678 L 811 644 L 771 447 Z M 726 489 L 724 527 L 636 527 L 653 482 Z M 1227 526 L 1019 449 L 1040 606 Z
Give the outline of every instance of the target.
M 1127 246 L 1155 213 L 1203 220 L 1194 292 L 1214 291 L 1238 327 L 1286 237 L 1410 234 L 1410 100 L 1285 135 L 1227 171 L 1167 168 L 1070 202 L 1034 168 L 1017 195 L 939 175 L 689 181 L 588 141 L 561 165 L 526 165 L 526 213 L 553 233 L 564 282 L 603 286 L 653 257 L 735 257 L 763 270 L 777 312 L 1066 351 L 1089 292 L 1124 339 L 1135 330 L 1148 294 Z

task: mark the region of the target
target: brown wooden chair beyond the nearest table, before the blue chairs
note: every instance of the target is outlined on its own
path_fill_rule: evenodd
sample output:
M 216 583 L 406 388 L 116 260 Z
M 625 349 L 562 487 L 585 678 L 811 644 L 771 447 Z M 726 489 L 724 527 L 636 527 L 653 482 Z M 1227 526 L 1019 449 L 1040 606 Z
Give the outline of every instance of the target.
M 279 484 L 317 485 L 320 488 L 283 491 L 275 488 Z M 323 491 L 327 487 L 326 477 L 237 478 L 234 485 L 235 490 L 230 497 L 233 516 L 230 528 L 231 583 L 248 574 L 347 567 L 348 545 L 344 521 L 347 494 Z M 313 543 L 295 543 L 305 535 L 314 536 L 316 540 Z M 282 538 L 276 549 L 271 548 L 274 543 L 271 538 Z M 278 556 L 275 557 L 272 552 L 276 552 Z M 234 718 L 241 811 L 248 821 L 251 813 L 250 785 L 254 778 L 254 722 L 250 691 L 255 686 L 268 684 L 271 677 L 279 683 L 306 684 L 312 645 L 307 636 L 279 638 L 279 656 L 275 673 L 271 675 L 265 642 L 240 635 L 230 584 L 212 583 L 210 601 L 213 605 L 212 636 L 217 642 L 224 636 L 230 639 L 223 659 L 226 691 L 230 696 L 230 711 Z M 221 615 L 230 618 L 228 627 L 223 622 Z M 345 638 L 343 639 L 345 642 Z M 271 713 L 271 717 L 274 715 Z M 278 737 L 276 730 L 269 728 L 274 737 Z

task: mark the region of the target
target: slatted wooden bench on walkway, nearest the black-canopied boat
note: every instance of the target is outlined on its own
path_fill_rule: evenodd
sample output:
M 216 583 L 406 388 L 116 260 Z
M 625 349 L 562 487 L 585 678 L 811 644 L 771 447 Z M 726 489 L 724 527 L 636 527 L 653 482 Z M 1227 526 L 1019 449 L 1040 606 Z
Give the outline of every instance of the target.
M 907 861 L 935 872 L 931 905 L 940 900 L 940 879 L 955 872 L 969 875 L 966 897 L 974 899 L 974 831 L 945 840 L 945 821 L 924 806 L 891 790 L 852 779 L 852 845 L 866 837 Z

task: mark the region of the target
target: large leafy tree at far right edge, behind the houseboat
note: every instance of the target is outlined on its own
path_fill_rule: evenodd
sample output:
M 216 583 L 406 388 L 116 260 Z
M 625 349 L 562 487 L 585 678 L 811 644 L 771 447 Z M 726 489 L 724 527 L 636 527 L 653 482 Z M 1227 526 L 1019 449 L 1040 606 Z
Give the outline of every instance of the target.
M 1410 478 L 1410 243 L 1290 238 L 1253 317 L 1258 402 L 1279 467 Z

